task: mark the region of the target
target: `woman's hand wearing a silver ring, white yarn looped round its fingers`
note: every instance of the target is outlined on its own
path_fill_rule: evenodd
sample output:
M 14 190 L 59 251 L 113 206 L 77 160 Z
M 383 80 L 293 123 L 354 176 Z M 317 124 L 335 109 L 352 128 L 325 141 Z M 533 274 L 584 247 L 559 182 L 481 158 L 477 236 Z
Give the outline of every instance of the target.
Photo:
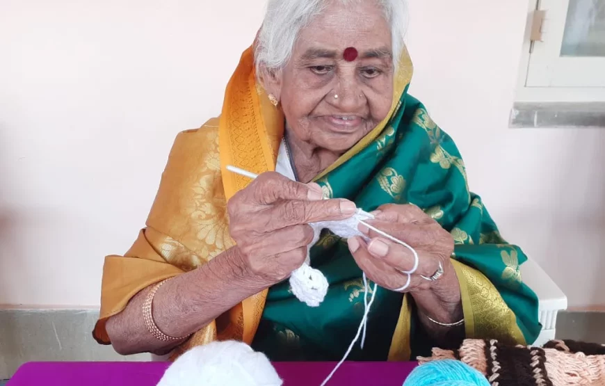
M 410 285 L 405 292 L 414 297 L 422 313 L 442 323 L 454 323 L 462 319 L 460 285 L 450 257 L 453 238 L 437 221 L 430 218 L 419 207 L 411 204 L 386 204 L 378 208 L 375 220 L 368 220 L 373 227 L 404 241 L 416 250 L 417 270 L 412 273 Z M 360 231 L 371 238 L 366 243 L 361 237 L 348 240 L 350 252 L 357 265 L 368 278 L 380 287 L 396 290 L 405 286 L 414 266 L 411 250 L 380 236 L 360 224 Z M 435 281 L 426 280 L 435 275 L 439 264 L 444 273 Z

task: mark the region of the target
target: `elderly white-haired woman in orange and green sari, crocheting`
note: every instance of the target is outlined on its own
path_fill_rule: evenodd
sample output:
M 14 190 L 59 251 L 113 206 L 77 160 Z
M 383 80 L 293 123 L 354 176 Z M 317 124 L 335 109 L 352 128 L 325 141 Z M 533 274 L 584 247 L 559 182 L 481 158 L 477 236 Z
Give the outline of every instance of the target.
M 378 289 L 352 360 L 408 360 L 465 337 L 533 342 L 526 257 L 408 95 L 404 19 L 402 0 L 268 1 L 220 118 L 177 136 L 146 227 L 124 256 L 106 257 L 97 341 L 177 357 L 237 339 L 271 360 L 338 360 L 362 319 L 365 273 Z M 287 280 L 305 262 L 308 224 L 356 208 L 417 251 L 410 285 L 398 290 L 408 248 L 363 225 L 367 238 L 324 230 L 311 265 L 329 289 L 309 307 Z

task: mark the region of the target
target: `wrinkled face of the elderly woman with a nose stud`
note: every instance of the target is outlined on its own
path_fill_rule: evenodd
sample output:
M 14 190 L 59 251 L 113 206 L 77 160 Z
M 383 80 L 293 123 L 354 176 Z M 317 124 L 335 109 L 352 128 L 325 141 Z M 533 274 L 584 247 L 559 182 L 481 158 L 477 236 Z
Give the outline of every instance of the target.
M 343 54 L 354 47 L 357 58 Z M 300 31 L 288 65 L 266 82 L 291 134 L 346 152 L 378 125 L 393 99 L 391 31 L 373 1 L 332 1 Z M 350 57 L 348 57 L 350 59 Z

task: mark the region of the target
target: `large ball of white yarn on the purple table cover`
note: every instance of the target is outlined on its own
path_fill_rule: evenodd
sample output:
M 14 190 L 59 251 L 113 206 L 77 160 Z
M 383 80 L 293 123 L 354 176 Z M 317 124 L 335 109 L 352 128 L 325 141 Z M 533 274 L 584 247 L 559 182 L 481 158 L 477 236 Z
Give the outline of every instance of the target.
M 157 386 L 281 386 L 263 353 L 239 341 L 213 341 L 187 351 L 168 367 Z

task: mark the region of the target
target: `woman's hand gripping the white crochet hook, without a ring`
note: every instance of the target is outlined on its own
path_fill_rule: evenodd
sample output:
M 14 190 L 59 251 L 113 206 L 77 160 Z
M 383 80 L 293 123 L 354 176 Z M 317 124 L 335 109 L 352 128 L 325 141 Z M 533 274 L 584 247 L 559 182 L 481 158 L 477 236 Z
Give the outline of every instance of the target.
M 271 284 L 287 278 L 307 257 L 318 221 L 344 220 L 355 213 L 348 200 L 323 200 L 318 184 L 301 184 L 266 172 L 227 203 L 236 255 L 252 275 Z

